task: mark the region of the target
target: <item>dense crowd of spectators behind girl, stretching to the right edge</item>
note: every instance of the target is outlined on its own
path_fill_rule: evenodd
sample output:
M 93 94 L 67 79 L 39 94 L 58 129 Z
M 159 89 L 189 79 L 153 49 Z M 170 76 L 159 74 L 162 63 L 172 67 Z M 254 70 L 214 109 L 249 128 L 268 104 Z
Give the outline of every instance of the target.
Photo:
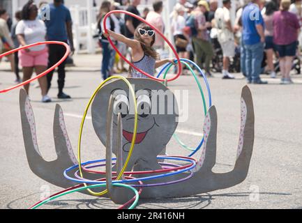
M 139 3 L 139 0 L 128 1 L 126 10 L 144 17 L 162 33 L 167 29 L 171 31 L 179 56 L 194 60 L 208 77 L 212 76 L 212 70 L 221 72 L 222 79 L 234 79 L 231 71 L 242 72 L 248 84 L 267 84 L 260 74 L 275 78 L 276 71 L 280 70 L 281 84 L 292 84 L 290 71 L 293 59 L 299 56 L 300 0 L 247 0 L 236 8 L 234 21 L 230 13 L 231 0 L 222 0 L 220 8 L 217 0 L 179 0 L 169 17 L 170 27 L 161 15 L 163 1 L 153 1 L 153 10 L 144 10 L 144 15 L 137 10 Z M 120 4 L 112 3 L 112 6 Z M 129 16 L 119 20 L 126 24 L 119 27 L 119 33 L 133 38 L 139 20 Z M 103 29 L 100 27 L 100 30 Z M 153 48 L 161 55 L 165 43 L 158 33 L 155 35 Z M 103 41 L 105 38 L 100 38 L 100 42 Z M 128 51 L 123 49 L 126 56 Z M 103 77 L 111 75 L 114 68 L 110 66 L 105 70 L 108 71 L 103 70 Z

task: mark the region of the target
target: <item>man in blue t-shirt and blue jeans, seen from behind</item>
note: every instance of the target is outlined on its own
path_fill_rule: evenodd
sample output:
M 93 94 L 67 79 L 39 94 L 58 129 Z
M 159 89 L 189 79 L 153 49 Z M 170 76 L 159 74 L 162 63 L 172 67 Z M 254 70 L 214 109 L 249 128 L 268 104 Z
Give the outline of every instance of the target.
M 246 78 L 248 84 L 267 84 L 260 79 L 264 52 L 264 21 L 259 10 L 259 1 L 252 0 L 243 9 L 243 44 L 246 49 Z

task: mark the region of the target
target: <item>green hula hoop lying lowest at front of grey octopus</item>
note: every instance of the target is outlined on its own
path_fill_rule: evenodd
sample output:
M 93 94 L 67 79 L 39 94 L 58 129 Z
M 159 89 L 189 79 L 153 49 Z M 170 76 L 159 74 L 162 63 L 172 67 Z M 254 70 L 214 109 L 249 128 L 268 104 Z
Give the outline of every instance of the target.
M 137 192 L 137 190 L 135 190 L 135 188 L 131 187 L 130 185 L 121 184 L 121 183 L 114 183 L 112 185 L 116 186 L 116 187 L 126 187 L 126 188 L 132 190 L 133 192 L 135 192 L 135 197 L 133 197 L 133 199 L 135 198 L 135 201 L 133 202 L 133 204 L 128 209 L 135 208 L 135 206 L 137 205 L 138 199 L 139 199 L 139 192 Z M 106 187 L 106 184 L 89 185 L 89 186 L 84 186 L 84 187 L 82 187 L 82 185 L 76 185 L 75 187 L 70 187 L 67 190 L 63 190 L 62 192 L 53 194 L 50 197 L 48 197 L 48 198 L 46 198 L 42 201 L 39 201 L 38 203 L 31 206 L 31 208 L 29 208 L 29 209 L 36 209 L 40 206 L 43 206 L 43 204 L 45 204 L 45 203 L 53 201 L 54 199 L 58 199 L 59 197 L 63 197 L 67 194 L 72 194 L 74 192 L 79 192 L 79 191 L 82 191 L 82 190 L 89 190 L 89 188 L 95 188 L 95 187 Z M 130 201 L 132 201 L 133 199 L 131 199 Z M 129 203 L 129 201 L 127 203 L 125 203 L 123 206 L 126 206 L 128 203 Z M 123 206 L 121 206 L 121 207 L 123 207 Z

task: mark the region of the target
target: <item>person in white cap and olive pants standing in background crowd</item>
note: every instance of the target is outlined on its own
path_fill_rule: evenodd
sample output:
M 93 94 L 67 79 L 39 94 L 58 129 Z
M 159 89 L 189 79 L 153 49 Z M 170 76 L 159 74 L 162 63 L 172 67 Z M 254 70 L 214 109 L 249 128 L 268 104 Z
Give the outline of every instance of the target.
M 208 28 L 211 26 L 210 22 L 206 22 L 206 17 L 204 13 L 209 11 L 209 4 L 202 0 L 198 2 L 197 8 L 192 12 L 195 17 L 195 23 L 197 24 L 197 34 L 192 36 L 192 43 L 195 49 L 195 61 L 197 65 L 202 68 L 203 56 L 204 59 L 204 70 L 206 70 L 206 75 L 211 76 L 210 72 L 210 62 L 213 57 L 213 48 L 210 42 L 210 36 Z

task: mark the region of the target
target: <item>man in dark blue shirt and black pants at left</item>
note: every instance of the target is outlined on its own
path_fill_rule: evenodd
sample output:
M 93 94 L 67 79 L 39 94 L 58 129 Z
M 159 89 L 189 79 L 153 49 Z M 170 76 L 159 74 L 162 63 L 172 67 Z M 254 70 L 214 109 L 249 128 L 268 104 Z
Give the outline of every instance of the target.
M 47 40 L 61 41 L 68 43 L 70 45 L 71 52 L 75 52 L 73 47 L 73 31 L 72 31 L 72 20 L 70 11 L 66 6 L 63 5 L 63 0 L 54 0 L 54 3 L 50 3 L 50 18 L 45 20 L 45 25 L 47 27 Z M 54 66 L 63 55 L 66 53 L 65 47 L 63 45 L 49 45 L 49 62 L 48 67 Z M 59 93 L 58 98 L 71 98 L 70 95 L 63 93 L 63 88 L 65 84 L 65 61 L 61 63 L 58 67 L 58 86 Z M 47 87 L 50 89 L 52 76 L 54 72 L 50 72 L 47 75 Z

